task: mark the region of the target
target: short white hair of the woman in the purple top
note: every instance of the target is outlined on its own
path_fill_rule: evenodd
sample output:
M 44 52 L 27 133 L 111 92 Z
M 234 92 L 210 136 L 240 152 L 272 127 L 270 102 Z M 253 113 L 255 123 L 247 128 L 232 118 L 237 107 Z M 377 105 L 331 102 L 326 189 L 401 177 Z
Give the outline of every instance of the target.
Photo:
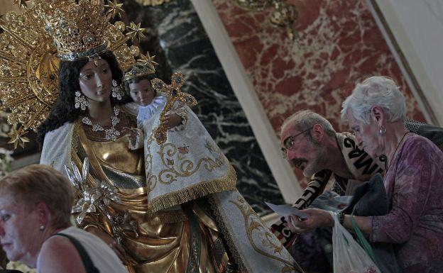
M 342 120 L 352 116 L 369 124 L 374 106 L 383 108 L 388 122 L 405 121 L 406 118 L 405 96 L 393 79 L 384 76 L 369 77 L 357 84 L 341 106 Z

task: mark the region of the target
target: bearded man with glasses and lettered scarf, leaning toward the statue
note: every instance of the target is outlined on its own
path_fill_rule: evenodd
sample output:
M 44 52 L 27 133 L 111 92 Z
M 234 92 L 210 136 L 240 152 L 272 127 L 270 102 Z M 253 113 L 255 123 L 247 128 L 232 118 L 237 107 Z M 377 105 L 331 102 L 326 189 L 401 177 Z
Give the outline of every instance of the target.
M 302 196 L 293 204 L 299 209 L 310 206 L 322 194 L 329 179 L 334 179 L 332 191 L 351 195 L 354 185 L 383 172 L 378 161 L 358 147 L 354 135 L 337 133 L 326 118 L 309 110 L 298 111 L 285 120 L 281 127 L 280 145 L 290 165 L 302 170 L 305 177 L 310 177 Z M 280 218 L 270 230 L 285 247 L 292 250 L 295 259 L 299 258 L 297 262 L 304 269 L 328 272 L 332 261 L 329 261 L 330 255 L 322 254 L 324 242 L 317 241 L 317 235 L 311 233 L 303 235 L 291 249 L 297 235 L 286 228 L 285 223 L 285 218 Z

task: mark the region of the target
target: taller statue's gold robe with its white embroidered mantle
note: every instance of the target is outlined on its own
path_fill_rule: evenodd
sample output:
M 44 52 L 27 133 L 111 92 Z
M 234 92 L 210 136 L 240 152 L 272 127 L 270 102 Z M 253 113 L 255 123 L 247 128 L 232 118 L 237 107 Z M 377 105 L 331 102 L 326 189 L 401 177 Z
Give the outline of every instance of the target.
M 121 126 L 128 127 L 128 124 L 122 123 L 124 121 L 120 123 Z M 143 184 L 138 184 L 143 183 L 143 171 L 138 164 L 141 162 L 141 154 L 136 152 L 124 155 L 121 147 L 127 147 L 128 143 L 123 144 L 120 141 L 123 140 L 119 139 L 116 143 L 102 141 L 97 144 L 97 140 L 90 139 L 90 136 L 87 138 L 78 121 L 65 123 L 46 133 L 40 164 L 53 165 L 67 177 L 65 165 L 75 162 L 81 169 L 82 160 L 88 157 L 91 167 L 87 184 L 96 186 L 104 181 L 118 186 L 116 195 L 120 201 L 118 204 L 111 202 L 109 214 L 114 216 L 114 223 L 121 221 L 121 226 L 115 228 L 114 225 L 113 230 L 105 216 L 98 217 L 94 213 L 89 213 L 82 225 L 84 228 L 99 228 L 107 233 L 112 230 L 116 234 L 122 234 L 122 245 L 126 248 L 131 263 L 128 267 L 130 272 L 236 272 L 232 270 L 233 264 L 238 267 L 238 272 L 302 272 L 289 252 L 235 190 L 235 172 L 234 189 L 222 189 L 211 194 L 212 184 L 204 182 L 199 187 L 201 192 L 188 191 L 188 188 L 184 191 L 186 194 L 183 197 L 198 194 L 197 199 L 188 199 L 185 203 L 175 203 L 178 199 L 174 199 L 175 204 L 169 204 L 163 198 L 158 199 L 160 202 L 151 202 L 164 206 L 157 210 L 159 206 L 150 208 L 147 204 L 150 195 L 146 194 Z M 97 149 L 107 144 L 109 146 L 104 152 L 94 150 L 94 147 Z M 145 152 L 145 157 L 147 156 L 149 155 Z M 132 162 L 128 168 L 139 172 L 121 172 L 124 167 L 109 164 L 116 161 L 119 164 Z M 228 179 L 231 178 L 229 170 L 234 171 L 232 167 L 226 169 Z M 202 193 L 206 194 L 200 195 Z M 131 221 L 137 222 L 131 225 Z M 134 227 L 138 237 L 131 229 Z M 195 230 L 199 232 L 194 232 Z M 229 246 L 230 255 L 224 243 Z M 235 259 L 235 263 L 231 257 Z

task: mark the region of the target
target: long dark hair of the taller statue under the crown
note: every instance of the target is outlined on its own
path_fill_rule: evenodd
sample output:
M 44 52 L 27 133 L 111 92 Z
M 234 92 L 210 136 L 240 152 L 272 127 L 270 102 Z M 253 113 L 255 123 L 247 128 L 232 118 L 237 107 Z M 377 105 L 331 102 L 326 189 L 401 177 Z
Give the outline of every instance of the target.
M 108 62 L 109 67 L 111 68 L 112 79 L 115 79 L 118 84 L 121 84 L 123 73 L 121 72 L 119 62 L 117 62 L 114 54 L 110 51 L 106 51 L 99 56 Z M 89 62 L 88 59 L 76 60 L 73 62 L 60 62 L 60 67 L 58 69 L 58 90 L 60 91 L 60 94 L 58 95 L 53 108 L 51 108 L 48 118 L 46 118 L 46 120 L 38 127 L 37 142 L 40 145 L 43 145 L 46 133 L 60 128 L 66 122 L 71 123 L 76 121 L 80 116 L 80 113 L 84 112 L 80 110 L 80 108 L 75 108 L 74 105 L 75 91 L 81 91 L 79 83 L 80 70 L 87 64 L 87 62 Z M 111 105 L 126 104 L 132 101 L 131 96 L 126 96 L 126 94 L 120 101 L 112 96 L 110 96 L 110 99 Z

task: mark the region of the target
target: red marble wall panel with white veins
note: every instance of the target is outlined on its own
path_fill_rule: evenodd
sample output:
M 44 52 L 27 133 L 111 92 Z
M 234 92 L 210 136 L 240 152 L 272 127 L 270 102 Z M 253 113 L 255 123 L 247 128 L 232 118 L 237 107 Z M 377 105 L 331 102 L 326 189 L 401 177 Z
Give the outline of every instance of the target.
M 305 108 L 346 130 L 339 118 L 341 102 L 356 82 L 373 75 L 393 77 L 407 97 L 408 118 L 424 121 L 365 1 L 290 1 L 299 11 L 295 42 L 269 23 L 269 11 L 212 2 L 276 134 L 287 116 Z

